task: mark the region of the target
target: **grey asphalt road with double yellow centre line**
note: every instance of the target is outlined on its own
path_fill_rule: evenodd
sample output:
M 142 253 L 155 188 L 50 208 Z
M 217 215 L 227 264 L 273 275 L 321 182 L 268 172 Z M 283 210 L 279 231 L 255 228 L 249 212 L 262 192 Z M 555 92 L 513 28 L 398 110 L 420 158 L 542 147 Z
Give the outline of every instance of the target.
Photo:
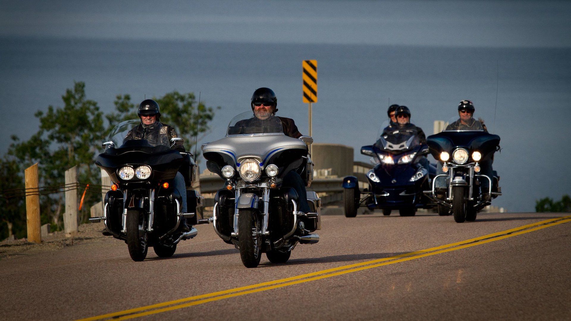
M 212 226 L 144 262 L 109 237 L 0 260 L 0 319 L 569 320 L 570 220 L 323 216 L 319 243 L 251 269 Z

